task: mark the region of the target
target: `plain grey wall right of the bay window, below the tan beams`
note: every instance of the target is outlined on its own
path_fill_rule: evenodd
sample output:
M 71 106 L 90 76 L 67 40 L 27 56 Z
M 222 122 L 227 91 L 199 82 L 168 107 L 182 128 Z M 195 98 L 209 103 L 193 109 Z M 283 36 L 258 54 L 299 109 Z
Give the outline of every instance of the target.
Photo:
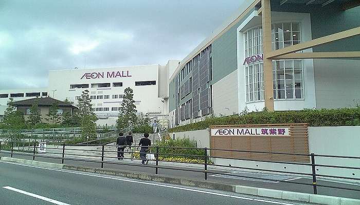
M 316 108 L 360 105 L 360 61 L 314 59 Z

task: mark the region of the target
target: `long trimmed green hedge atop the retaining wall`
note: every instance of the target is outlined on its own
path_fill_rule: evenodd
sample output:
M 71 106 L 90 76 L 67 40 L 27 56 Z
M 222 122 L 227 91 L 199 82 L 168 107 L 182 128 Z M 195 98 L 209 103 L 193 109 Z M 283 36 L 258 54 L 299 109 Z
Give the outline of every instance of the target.
M 169 129 L 169 132 L 203 130 L 212 125 L 250 125 L 308 123 L 311 127 L 360 126 L 360 107 L 306 109 L 301 111 L 250 112 L 226 117 L 207 117 L 203 121 Z

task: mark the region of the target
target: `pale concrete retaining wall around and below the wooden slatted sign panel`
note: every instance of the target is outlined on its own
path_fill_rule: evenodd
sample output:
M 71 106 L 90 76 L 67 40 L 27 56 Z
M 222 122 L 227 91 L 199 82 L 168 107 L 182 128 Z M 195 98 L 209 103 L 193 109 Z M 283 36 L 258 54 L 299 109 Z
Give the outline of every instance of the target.
M 354 127 L 309 127 L 310 153 L 318 155 L 360 156 L 360 126 Z M 176 138 L 189 137 L 198 141 L 198 147 L 209 147 L 209 131 L 198 130 L 175 133 Z M 199 143 L 200 142 L 200 143 Z M 218 165 L 265 169 L 269 172 L 288 171 L 311 174 L 311 166 L 287 165 L 285 163 L 258 162 L 248 160 L 211 159 Z M 360 168 L 360 159 L 316 157 L 318 165 L 336 165 Z M 249 170 L 247 170 L 249 171 Z M 317 167 L 317 174 L 360 178 L 360 170 Z M 333 179 L 334 180 L 334 179 Z M 335 179 L 336 180 L 336 179 Z M 344 179 L 343 179 L 344 180 Z

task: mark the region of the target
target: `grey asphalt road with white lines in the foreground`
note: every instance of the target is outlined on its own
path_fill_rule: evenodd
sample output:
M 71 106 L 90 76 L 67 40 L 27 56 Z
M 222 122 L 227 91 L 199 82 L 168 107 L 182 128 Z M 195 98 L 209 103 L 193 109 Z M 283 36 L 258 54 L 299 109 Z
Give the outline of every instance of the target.
M 0 204 L 297 205 L 162 183 L 0 162 Z

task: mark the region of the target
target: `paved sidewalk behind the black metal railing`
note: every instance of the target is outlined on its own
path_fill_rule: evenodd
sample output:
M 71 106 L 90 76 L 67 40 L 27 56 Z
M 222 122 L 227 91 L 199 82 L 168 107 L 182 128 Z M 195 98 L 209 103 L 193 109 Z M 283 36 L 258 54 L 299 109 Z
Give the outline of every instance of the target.
M 7 153 L 1 153 L 1 156 L 9 156 Z M 13 157 L 16 158 L 25 158 L 32 159 L 32 156 L 22 156 L 14 154 Z M 61 163 L 61 159 L 52 159 L 45 157 L 36 157 L 35 160 L 38 161 L 46 161 L 46 162 L 55 162 Z M 139 161 L 110 161 L 111 163 L 119 163 L 119 164 L 105 164 L 104 168 L 109 169 L 118 169 L 118 170 L 127 170 L 132 172 L 145 172 L 145 173 L 155 173 L 154 165 L 141 166 L 139 165 Z M 81 166 L 81 167 L 89 167 L 89 168 L 100 168 L 99 162 L 88 162 L 82 161 L 82 159 L 78 160 L 65 160 L 65 164 Z M 211 166 L 209 166 L 211 167 Z M 161 169 L 163 168 L 163 169 Z M 168 168 L 168 169 L 164 169 Z M 179 170 L 171 170 L 171 169 L 184 169 L 188 171 L 179 171 Z M 191 167 L 174 167 L 174 166 L 160 166 L 159 174 L 164 176 L 172 176 L 172 177 L 183 177 L 190 179 L 204 179 L 204 173 L 202 173 L 203 169 L 200 168 L 191 168 Z M 295 192 L 303 192 L 303 193 L 313 193 L 312 186 L 307 185 L 297 185 L 294 183 L 286 183 L 279 181 L 269 181 L 268 179 L 275 180 L 288 180 L 292 182 L 298 183 L 312 183 L 312 179 L 290 176 L 290 175 L 277 175 L 277 174 L 262 174 L 262 173 L 251 173 L 251 172 L 230 172 L 230 171 L 219 171 L 209 169 L 209 172 L 215 172 L 220 174 L 209 174 L 208 180 L 221 182 L 221 183 L 230 183 L 232 185 L 243 185 L 250 187 L 261 187 L 268 189 L 277 189 L 277 190 L 285 190 L 285 191 L 295 191 Z M 228 176 L 224 175 L 226 173 L 232 173 L 237 176 Z M 248 177 L 256 177 L 261 179 L 251 179 Z M 350 182 L 350 183 L 340 183 L 336 181 L 327 181 L 327 180 L 317 180 L 318 185 L 320 186 L 332 186 L 338 188 L 350 188 L 350 189 L 360 189 L 360 185 Z M 347 198 L 356 198 L 360 199 L 359 191 L 350 191 L 350 190 L 342 190 L 342 189 L 333 189 L 333 188 L 323 188 L 318 187 L 318 194 L 321 195 L 330 195 L 330 196 L 339 196 L 339 197 L 347 197 Z

